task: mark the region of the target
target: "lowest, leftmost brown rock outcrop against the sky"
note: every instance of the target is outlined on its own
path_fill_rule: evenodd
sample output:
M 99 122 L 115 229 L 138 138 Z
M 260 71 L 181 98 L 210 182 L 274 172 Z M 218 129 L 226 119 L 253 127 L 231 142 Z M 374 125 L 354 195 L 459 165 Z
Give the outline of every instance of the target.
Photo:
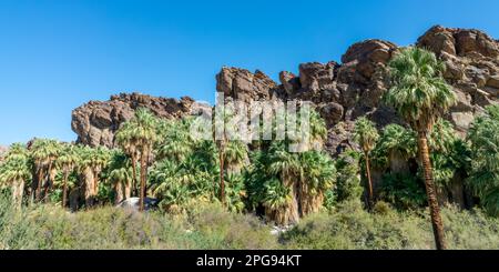
M 90 101 L 73 110 L 71 127 L 79 135 L 78 142 L 91 147 L 113 147 L 114 133 L 133 117 L 136 109 L 147 108 L 161 118 L 181 118 L 191 112 L 193 102 L 191 98 L 176 100 L 121 93 L 109 101 Z

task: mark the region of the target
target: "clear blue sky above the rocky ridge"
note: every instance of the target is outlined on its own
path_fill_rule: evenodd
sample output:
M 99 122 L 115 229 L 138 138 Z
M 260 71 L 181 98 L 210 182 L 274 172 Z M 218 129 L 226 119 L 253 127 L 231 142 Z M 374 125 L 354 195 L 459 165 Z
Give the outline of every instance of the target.
M 182 2 L 182 3 L 180 3 Z M 276 79 L 434 24 L 499 38 L 499 1 L 0 0 L 0 144 L 74 140 L 71 110 L 121 91 L 213 101 L 222 66 Z

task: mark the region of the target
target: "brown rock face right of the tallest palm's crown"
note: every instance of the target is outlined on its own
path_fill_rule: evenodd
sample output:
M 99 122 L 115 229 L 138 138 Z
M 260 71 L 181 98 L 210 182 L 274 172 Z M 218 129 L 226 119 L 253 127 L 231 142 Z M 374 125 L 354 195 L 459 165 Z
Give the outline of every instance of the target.
M 444 77 L 458 98 L 448 119 L 464 135 L 483 107 L 498 102 L 499 42 L 479 30 L 437 26 L 419 38 L 417 46 L 434 51 L 446 63 Z

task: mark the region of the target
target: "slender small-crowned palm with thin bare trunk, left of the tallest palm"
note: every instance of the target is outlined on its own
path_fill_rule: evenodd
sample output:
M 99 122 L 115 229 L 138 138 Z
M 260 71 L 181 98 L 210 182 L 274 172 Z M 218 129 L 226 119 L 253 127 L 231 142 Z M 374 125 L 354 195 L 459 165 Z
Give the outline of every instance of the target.
M 373 180 L 370 178 L 370 165 L 369 165 L 369 153 L 374 149 L 379 134 L 376 130 L 375 124 L 367 118 L 361 117 L 355 122 L 354 139 L 360 145 L 364 152 L 364 160 L 366 163 L 366 174 L 368 184 L 368 205 L 369 209 L 373 208 L 374 195 L 373 195 Z

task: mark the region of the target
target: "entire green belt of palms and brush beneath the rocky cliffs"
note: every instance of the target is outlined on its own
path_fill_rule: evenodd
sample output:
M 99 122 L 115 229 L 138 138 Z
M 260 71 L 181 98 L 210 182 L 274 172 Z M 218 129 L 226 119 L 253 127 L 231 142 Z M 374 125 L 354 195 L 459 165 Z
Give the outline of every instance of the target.
M 381 103 L 401 122 L 360 115 L 356 145 L 336 154 L 318 110 L 314 144 L 197 139 L 194 117 L 146 108 L 113 148 L 12 144 L 0 164 L 0 248 L 498 249 L 499 105 L 458 135 L 444 119 L 456 104 L 446 69 L 428 50 L 400 49 Z M 471 192 L 466 206 L 444 197 L 456 177 Z M 133 198 L 136 209 L 122 208 Z

